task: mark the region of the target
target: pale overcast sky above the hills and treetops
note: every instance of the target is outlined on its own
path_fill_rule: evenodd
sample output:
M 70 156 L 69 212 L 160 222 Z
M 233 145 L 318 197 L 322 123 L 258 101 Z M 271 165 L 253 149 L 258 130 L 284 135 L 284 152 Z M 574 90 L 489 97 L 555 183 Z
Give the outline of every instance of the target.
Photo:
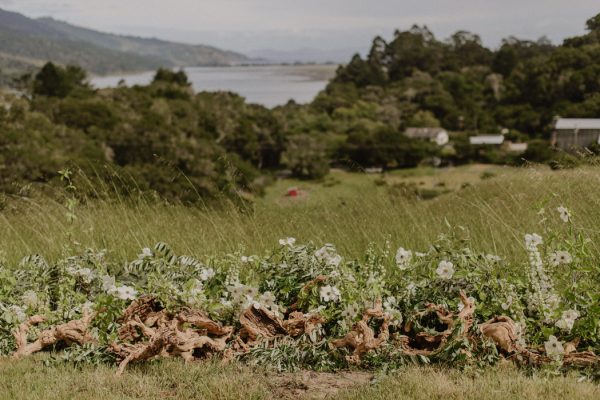
M 492 47 L 511 34 L 558 43 L 600 13 L 599 0 L 0 0 L 0 7 L 246 53 L 364 49 L 375 35 L 389 38 L 414 23 L 439 38 L 470 30 Z

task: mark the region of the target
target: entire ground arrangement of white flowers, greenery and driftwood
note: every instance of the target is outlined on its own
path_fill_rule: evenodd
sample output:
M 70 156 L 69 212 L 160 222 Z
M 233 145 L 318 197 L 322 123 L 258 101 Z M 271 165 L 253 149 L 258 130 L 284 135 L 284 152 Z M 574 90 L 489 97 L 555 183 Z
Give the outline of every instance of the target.
M 387 242 L 348 261 L 294 238 L 204 262 L 164 243 L 125 265 L 104 251 L 29 256 L 0 269 L 0 352 L 55 350 L 50 360 L 116 363 L 118 374 L 160 357 L 324 371 L 510 359 L 597 378 L 600 267 L 569 210 L 542 215 L 522 265 L 473 251 L 461 228 L 423 252 Z

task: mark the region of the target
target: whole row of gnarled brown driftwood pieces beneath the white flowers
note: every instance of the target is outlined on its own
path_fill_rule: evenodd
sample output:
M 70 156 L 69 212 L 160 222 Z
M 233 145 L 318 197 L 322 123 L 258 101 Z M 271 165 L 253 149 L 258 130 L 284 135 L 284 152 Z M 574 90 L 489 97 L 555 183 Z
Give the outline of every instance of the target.
M 324 279 L 316 278 L 303 290 L 310 290 Z M 388 342 L 406 355 L 430 357 L 441 352 L 450 340 L 466 338 L 477 344 L 485 338 L 493 342 L 504 357 L 517 363 L 543 365 L 554 362 L 543 348 L 531 349 L 522 343 L 517 325 L 507 316 L 497 316 L 478 325 L 479 334 L 475 333 L 472 329 L 475 305 L 462 291 L 460 300 L 463 307 L 456 313 L 441 305 L 426 304 L 425 310 L 416 314 L 420 318 L 433 315 L 439 322 L 439 332 L 414 332 L 413 324 L 407 323 L 404 335 L 389 342 L 390 316 L 383 311 L 382 301 L 378 299 L 346 336 L 332 340 L 330 344 L 333 348 L 350 350 L 351 354 L 346 359 L 349 363 L 357 364 L 368 352 Z M 31 317 L 13 332 L 17 349 L 12 356 L 28 356 L 59 342 L 66 345 L 93 343 L 89 327 L 95 315 L 85 310 L 81 319 L 43 330 L 35 341 L 29 343 L 30 328 L 46 321 L 42 316 Z M 121 375 L 131 362 L 156 357 L 181 357 L 185 362 L 190 362 L 218 355 L 223 361 L 231 360 L 254 346 L 265 342 L 270 345 L 274 339 L 310 335 L 325 320 L 317 313 L 304 314 L 299 311 L 282 319 L 255 304 L 242 312 L 239 317 L 241 328 L 234 335 L 236 332 L 233 327 L 213 321 L 203 311 L 186 308 L 176 314 L 169 313 L 153 297 L 146 296 L 131 303 L 119 322 L 119 341 L 111 344 L 109 351 L 116 356 L 119 362 L 117 374 Z M 377 332 L 373 326 L 378 326 Z M 564 365 L 585 367 L 600 364 L 600 357 L 591 351 L 578 352 L 578 345 L 578 341 L 564 345 Z

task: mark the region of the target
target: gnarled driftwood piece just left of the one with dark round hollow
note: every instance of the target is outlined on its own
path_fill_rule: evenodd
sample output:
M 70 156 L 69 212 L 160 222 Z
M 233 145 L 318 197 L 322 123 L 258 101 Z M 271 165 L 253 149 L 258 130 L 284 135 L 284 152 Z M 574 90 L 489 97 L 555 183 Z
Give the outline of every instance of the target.
M 381 320 L 379 334 L 375 335 L 375 331 L 369 326 L 371 320 Z M 368 309 L 363 314 L 363 317 L 358 321 L 352 330 L 342 339 L 333 340 L 331 345 L 335 348 L 348 348 L 352 351 L 352 355 L 347 356 L 349 363 L 357 364 L 361 358 L 369 351 L 379 348 L 383 343 L 390 338 L 389 332 L 390 316 L 383 312 L 381 299 L 375 303 L 375 307 Z

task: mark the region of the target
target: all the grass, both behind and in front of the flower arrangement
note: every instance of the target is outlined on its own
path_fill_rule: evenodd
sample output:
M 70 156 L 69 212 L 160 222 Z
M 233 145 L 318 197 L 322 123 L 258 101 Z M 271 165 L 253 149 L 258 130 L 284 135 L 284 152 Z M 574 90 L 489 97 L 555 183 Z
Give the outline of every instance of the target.
M 438 190 L 419 200 L 406 185 Z M 301 195 L 285 197 L 289 187 Z M 442 194 L 443 193 L 443 194 Z M 108 249 L 115 260 L 136 257 L 158 241 L 181 254 L 200 258 L 236 251 L 262 254 L 277 240 L 294 236 L 318 245 L 334 243 L 347 258 L 364 253 L 370 242 L 390 239 L 394 246 L 426 250 L 448 226 L 468 229 L 472 247 L 525 261 L 523 235 L 536 232 L 539 210 L 565 205 L 574 224 L 591 239 L 592 257 L 600 254 L 600 174 L 592 168 L 550 171 L 470 166 L 452 170 L 420 169 L 386 176 L 334 171 L 324 182 L 279 181 L 259 199 L 253 212 L 233 206 L 221 210 L 124 200 L 95 201 L 66 208 L 50 200 L 18 200 L 0 214 L 0 251 L 16 263 L 27 254 L 57 259 L 74 250 Z M 599 398 L 598 386 L 575 377 L 528 378 L 511 368 L 483 375 L 417 367 L 375 379 L 358 374 L 277 375 L 238 365 L 180 361 L 136 366 L 122 379 L 109 367 L 46 368 L 43 356 L 0 360 L 0 399 L 162 399 L 162 398 L 322 398 L 342 399 L 562 399 Z M 358 387 L 349 383 L 362 382 Z M 315 386 L 316 385 L 316 386 Z

